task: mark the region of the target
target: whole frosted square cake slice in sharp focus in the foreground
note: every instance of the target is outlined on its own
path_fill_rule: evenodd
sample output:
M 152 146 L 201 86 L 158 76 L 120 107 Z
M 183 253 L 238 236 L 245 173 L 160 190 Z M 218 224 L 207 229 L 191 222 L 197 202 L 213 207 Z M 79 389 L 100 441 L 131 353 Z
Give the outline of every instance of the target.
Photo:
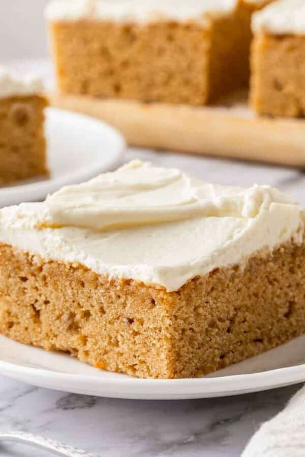
M 0 332 L 142 378 L 305 332 L 304 216 L 277 189 L 133 161 L 0 210 Z

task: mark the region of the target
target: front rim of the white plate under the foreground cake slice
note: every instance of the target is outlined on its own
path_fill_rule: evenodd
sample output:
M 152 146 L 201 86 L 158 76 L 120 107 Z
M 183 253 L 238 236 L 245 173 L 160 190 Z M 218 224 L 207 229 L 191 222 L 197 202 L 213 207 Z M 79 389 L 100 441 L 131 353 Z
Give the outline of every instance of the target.
M 132 376 L 102 378 L 0 360 L 0 374 L 29 384 L 71 393 L 121 399 L 174 400 L 241 395 L 296 384 L 305 381 L 305 364 L 219 377 L 141 379 Z M 240 381 L 243 381 L 243 385 L 239 387 Z

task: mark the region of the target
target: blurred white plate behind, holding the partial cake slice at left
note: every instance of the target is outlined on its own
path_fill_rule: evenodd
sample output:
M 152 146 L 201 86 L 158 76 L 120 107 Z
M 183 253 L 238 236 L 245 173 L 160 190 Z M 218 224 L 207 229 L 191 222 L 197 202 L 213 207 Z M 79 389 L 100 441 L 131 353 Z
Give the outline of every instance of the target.
M 125 148 L 110 125 L 56 108 L 46 109 L 46 138 L 50 176 L 0 187 L 0 207 L 43 200 L 64 185 L 113 169 Z

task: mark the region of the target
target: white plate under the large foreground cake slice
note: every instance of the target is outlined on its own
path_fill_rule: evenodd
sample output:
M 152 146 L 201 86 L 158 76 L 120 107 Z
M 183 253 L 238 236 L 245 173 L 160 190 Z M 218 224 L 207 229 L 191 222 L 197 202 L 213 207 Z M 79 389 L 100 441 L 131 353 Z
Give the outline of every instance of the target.
M 99 397 L 175 400 L 222 397 L 305 381 L 305 335 L 197 379 L 137 379 L 0 336 L 0 373 L 29 384 Z

